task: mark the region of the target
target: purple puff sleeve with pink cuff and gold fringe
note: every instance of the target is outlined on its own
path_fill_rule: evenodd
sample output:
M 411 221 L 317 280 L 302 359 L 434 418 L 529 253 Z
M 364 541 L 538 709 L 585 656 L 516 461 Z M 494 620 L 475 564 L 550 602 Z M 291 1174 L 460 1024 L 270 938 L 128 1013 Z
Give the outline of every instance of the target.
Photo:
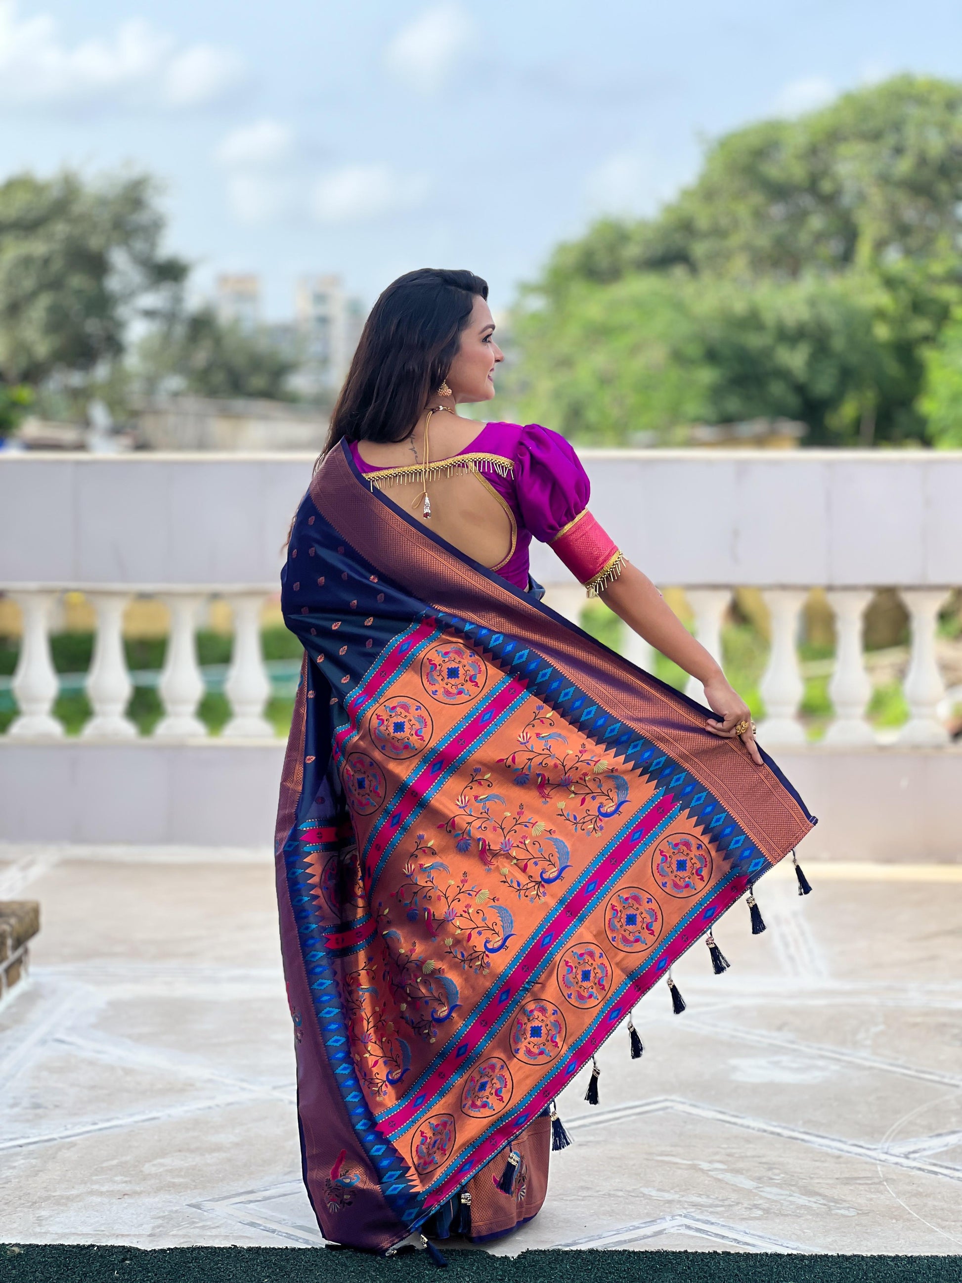
M 618 577 L 625 557 L 587 511 L 591 484 L 570 441 L 537 423 L 523 429 L 514 484 L 525 526 L 552 545 L 589 597 Z

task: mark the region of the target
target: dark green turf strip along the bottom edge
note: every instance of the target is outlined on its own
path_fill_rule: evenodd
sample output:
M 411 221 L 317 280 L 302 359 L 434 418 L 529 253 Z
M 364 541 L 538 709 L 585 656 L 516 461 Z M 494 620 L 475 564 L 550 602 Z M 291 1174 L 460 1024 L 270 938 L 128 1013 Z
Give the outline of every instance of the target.
M 4 1283 L 958 1283 L 959 1256 L 780 1256 L 773 1252 L 536 1251 L 489 1256 L 426 1252 L 385 1260 L 366 1252 L 291 1247 L 0 1247 Z

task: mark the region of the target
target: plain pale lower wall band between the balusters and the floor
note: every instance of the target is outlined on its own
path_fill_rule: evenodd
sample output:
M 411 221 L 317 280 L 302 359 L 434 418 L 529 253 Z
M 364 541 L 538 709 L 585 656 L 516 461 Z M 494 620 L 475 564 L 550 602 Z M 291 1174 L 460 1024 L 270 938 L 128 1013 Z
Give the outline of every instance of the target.
M 962 862 L 962 749 L 782 751 L 814 858 Z M 0 842 L 269 847 L 283 744 L 0 739 Z

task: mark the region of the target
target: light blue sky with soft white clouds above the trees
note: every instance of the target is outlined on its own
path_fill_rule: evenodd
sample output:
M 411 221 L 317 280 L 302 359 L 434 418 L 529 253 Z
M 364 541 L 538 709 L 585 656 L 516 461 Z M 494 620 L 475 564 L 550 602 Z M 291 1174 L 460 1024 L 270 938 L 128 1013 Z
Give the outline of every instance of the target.
M 962 78 L 948 0 L 0 0 L 0 178 L 121 167 L 168 248 L 366 304 L 468 267 L 495 314 L 604 213 L 648 214 L 707 140 L 911 71 Z

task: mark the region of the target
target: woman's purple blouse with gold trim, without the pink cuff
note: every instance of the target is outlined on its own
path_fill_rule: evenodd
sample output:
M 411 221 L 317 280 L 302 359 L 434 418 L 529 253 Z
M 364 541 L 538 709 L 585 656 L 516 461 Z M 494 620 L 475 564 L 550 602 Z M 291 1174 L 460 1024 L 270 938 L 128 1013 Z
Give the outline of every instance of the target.
M 357 441 L 350 450 L 366 476 L 391 471 L 366 463 Z M 514 547 L 491 570 L 526 590 L 532 536 L 550 544 L 587 507 L 591 484 L 581 461 L 563 436 L 537 423 L 486 423 L 453 458 L 472 463 L 504 499 L 514 522 Z M 508 461 L 511 467 L 486 466 L 494 459 Z

